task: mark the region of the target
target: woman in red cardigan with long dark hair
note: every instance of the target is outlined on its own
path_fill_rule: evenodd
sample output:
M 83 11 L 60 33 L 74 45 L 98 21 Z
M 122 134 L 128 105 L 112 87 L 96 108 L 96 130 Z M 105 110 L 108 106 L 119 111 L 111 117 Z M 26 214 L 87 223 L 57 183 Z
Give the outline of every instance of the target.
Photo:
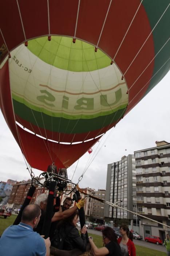
M 120 226 L 120 234 L 122 237 L 118 238 L 123 256 L 136 256 L 136 249 L 133 243 L 133 234 L 129 231 L 127 225 Z

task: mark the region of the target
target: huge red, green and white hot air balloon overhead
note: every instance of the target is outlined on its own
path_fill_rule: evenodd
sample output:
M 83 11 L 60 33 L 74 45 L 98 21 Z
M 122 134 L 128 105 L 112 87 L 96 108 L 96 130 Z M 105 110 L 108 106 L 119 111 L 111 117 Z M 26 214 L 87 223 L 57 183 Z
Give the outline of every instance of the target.
M 72 165 L 149 93 L 169 20 L 169 0 L 2 1 L 0 108 L 30 166 Z

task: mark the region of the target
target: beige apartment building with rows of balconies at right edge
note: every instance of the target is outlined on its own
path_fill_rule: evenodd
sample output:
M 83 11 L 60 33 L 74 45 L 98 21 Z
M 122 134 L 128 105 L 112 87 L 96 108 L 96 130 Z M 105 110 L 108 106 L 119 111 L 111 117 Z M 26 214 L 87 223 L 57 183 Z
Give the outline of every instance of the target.
M 156 147 L 135 151 L 137 211 L 170 226 L 170 143 L 156 141 Z M 165 239 L 165 226 L 141 218 L 143 237 Z

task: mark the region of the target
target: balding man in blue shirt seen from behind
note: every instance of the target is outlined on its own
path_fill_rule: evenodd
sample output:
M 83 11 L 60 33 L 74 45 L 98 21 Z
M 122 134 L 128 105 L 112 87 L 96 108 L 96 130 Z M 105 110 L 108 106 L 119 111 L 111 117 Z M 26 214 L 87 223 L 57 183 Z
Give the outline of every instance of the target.
M 23 210 L 19 225 L 5 229 L 0 238 L 0 255 L 3 256 L 50 256 L 50 239 L 44 239 L 33 231 L 40 220 L 41 209 L 30 204 Z

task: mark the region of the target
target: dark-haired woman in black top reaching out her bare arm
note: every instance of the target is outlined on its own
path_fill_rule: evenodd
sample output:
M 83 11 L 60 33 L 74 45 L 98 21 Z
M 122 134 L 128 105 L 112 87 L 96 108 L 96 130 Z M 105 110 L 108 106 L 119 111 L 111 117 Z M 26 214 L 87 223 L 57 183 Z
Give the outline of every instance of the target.
M 104 246 L 97 248 L 93 240 L 89 238 L 91 249 L 95 256 L 122 256 L 120 246 L 118 245 L 117 238 L 114 230 L 111 227 L 106 227 L 102 231 Z

